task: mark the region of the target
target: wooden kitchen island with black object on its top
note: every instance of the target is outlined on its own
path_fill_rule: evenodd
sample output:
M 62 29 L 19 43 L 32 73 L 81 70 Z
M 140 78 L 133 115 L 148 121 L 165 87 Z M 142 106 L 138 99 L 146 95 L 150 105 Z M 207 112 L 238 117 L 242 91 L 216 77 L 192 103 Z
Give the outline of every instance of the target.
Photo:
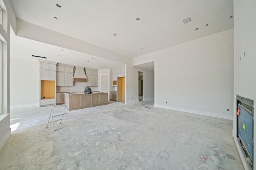
M 108 93 L 93 92 L 92 94 L 84 94 L 81 92 L 75 92 L 64 93 L 64 95 L 64 104 L 68 110 L 108 104 Z

